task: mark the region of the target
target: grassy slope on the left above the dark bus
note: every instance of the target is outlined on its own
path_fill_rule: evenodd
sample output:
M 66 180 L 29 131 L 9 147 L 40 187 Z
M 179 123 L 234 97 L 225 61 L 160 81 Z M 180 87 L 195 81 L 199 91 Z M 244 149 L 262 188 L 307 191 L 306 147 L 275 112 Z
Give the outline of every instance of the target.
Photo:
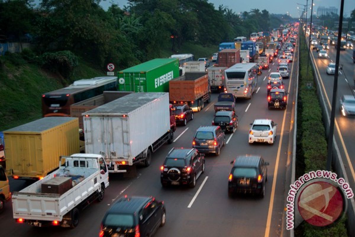
M 20 55 L 18 55 L 20 56 Z M 0 131 L 31 122 L 42 117 L 42 93 L 70 85 L 72 81 L 94 76 L 101 72 L 83 60 L 69 79 L 45 72 L 37 65 L 15 65 L 6 56 L 1 56 L 0 68 Z

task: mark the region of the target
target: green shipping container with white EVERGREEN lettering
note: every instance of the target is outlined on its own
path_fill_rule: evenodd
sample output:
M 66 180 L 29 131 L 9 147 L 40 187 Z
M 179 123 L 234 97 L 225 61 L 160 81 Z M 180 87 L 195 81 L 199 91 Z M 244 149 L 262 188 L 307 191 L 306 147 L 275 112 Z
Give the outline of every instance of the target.
M 179 59 L 156 58 L 118 73 L 118 90 L 169 92 L 169 81 L 179 77 Z

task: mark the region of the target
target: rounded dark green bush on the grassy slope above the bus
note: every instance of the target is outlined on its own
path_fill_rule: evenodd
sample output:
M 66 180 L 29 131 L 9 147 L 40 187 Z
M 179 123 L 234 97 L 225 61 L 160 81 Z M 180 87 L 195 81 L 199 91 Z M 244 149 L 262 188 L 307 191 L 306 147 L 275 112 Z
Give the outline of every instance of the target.
M 59 72 L 63 77 L 69 77 L 77 65 L 77 56 L 69 50 L 44 53 L 42 55 L 43 68 L 53 72 Z

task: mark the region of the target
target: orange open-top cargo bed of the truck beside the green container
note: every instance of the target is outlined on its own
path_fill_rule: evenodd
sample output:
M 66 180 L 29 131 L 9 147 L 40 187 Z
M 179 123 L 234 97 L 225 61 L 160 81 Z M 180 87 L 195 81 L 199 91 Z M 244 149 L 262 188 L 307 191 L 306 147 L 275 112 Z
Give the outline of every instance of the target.
M 184 76 L 180 76 L 169 82 L 169 99 L 170 101 L 196 101 L 203 95 L 207 94 L 208 75 L 204 72 L 186 72 Z

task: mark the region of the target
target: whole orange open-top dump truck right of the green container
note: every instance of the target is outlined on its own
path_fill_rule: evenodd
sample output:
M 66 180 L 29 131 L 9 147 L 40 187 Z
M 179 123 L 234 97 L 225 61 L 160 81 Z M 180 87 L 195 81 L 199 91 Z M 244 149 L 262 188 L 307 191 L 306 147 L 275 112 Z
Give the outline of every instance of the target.
M 207 73 L 186 72 L 169 81 L 169 100 L 172 104 L 186 103 L 193 111 L 201 111 L 211 100 Z

